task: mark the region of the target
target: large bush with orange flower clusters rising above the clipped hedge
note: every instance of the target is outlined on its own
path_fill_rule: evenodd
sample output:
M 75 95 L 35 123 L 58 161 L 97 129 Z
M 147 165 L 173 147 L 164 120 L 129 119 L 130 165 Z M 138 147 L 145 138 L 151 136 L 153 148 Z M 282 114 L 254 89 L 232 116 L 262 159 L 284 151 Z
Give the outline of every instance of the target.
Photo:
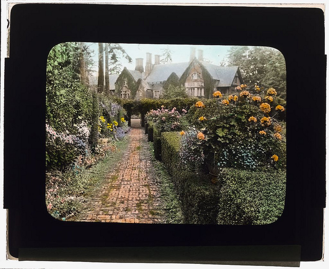
M 275 118 L 284 107 L 275 100 L 276 90 L 270 88 L 261 97 L 257 85 L 254 90 L 245 84 L 236 89 L 240 94 L 224 99 L 223 94 L 216 91 L 213 94 L 216 101 L 198 101 L 191 107 L 187 118 L 196 126 L 195 145 L 192 147 L 191 142 L 182 145 L 182 152 L 185 155 L 189 152 L 190 159 L 204 156 L 206 162 L 219 167 L 285 167 L 280 161 L 285 159 L 285 152 L 281 150 L 285 137 L 281 133 L 282 125 Z M 218 106 L 218 99 L 222 98 Z

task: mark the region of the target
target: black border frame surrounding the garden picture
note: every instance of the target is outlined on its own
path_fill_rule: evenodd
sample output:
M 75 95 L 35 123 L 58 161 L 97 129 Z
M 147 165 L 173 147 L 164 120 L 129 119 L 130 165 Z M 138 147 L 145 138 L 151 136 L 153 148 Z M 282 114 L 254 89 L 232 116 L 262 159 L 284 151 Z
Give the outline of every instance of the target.
M 199 33 L 197 39 L 189 31 L 191 28 Z M 53 219 L 44 199 L 45 67 L 50 49 L 69 41 L 257 45 L 279 49 L 286 59 L 288 88 L 287 191 L 281 218 L 261 226 L 79 223 Z M 67 249 L 76 247 L 97 247 L 98 253 L 108 247 L 167 247 L 167 251 L 183 247 L 181 253 L 186 253 L 193 247 L 206 246 L 213 250 L 218 246 L 297 246 L 293 260 L 296 253 L 300 253 L 302 261 L 322 258 L 326 57 L 321 9 L 15 5 L 10 20 L 10 58 L 5 65 L 4 208 L 9 209 L 12 256 L 29 259 L 34 253 L 34 259 L 51 260 L 60 254 L 45 257 L 29 250 L 64 248 L 67 254 Z M 17 121 L 18 129 L 13 128 Z M 196 252 L 197 261 L 227 260 L 214 251 L 210 256 L 200 248 Z M 64 256 L 74 260 L 73 253 Z M 129 260 L 132 253 L 127 252 L 122 261 Z M 142 253 L 141 257 L 154 261 L 150 257 L 152 251 Z M 259 250 L 255 252 L 256 259 L 260 257 L 257 253 L 260 255 Z M 93 255 L 90 252 L 82 259 L 93 260 Z M 106 253 L 100 256 L 99 260 L 106 260 Z M 155 260 L 168 262 L 173 256 L 159 254 Z M 186 259 L 176 257 L 175 261 L 196 262 L 193 257 L 182 257 Z M 235 257 L 236 261 L 239 259 Z

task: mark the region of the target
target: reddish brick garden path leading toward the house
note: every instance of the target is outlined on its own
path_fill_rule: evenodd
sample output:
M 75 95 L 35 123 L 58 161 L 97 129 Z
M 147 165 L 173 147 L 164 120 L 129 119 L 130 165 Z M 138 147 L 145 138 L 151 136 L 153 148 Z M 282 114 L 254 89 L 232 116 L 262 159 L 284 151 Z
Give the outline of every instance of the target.
M 138 122 L 137 122 L 138 121 Z M 139 120 L 132 120 L 132 127 Z M 79 221 L 163 223 L 159 183 L 153 172 L 147 134 L 134 127 L 129 146 L 101 186 L 88 198 L 86 214 Z

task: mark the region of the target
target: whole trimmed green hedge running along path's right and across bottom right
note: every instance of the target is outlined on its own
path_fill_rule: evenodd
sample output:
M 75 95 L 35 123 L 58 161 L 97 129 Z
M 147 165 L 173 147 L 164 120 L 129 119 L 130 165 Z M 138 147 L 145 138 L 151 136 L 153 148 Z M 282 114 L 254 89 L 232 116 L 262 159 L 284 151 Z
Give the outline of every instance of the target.
M 161 159 L 182 201 L 184 222 L 267 224 L 282 214 L 286 173 L 225 168 L 214 185 L 209 175 L 180 164 L 179 132 L 161 133 Z

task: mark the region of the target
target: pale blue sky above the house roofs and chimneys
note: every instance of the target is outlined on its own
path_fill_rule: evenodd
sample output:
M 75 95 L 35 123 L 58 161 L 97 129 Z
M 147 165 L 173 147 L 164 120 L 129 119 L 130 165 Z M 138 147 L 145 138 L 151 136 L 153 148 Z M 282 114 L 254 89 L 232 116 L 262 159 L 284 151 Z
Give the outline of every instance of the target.
M 85 43 L 87 46 L 91 43 Z M 120 44 L 124 50 L 133 59 L 133 63 L 129 64 L 125 59 L 122 59 L 122 68 L 127 67 L 127 69 L 135 69 L 136 58 L 143 58 L 143 65 L 145 66 L 146 53 L 152 53 L 152 63 L 154 64 L 154 55 L 161 55 L 163 51 L 161 49 L 167 48 L 169 46 L 172 51 L 172 62 L 181 63 L 188 62 L 190 60 L 190 47 L 195 47 L 196 56 L 197 50 L 202 49 L 204 51 L 204 59 L 211 62 L 214 65 L 220 65 L 220 63 L 225 59 L 226 54 L 230 46 L 209 46 L 209 45 L 153 45 L 153 44 Z M 93 57 L 94 61 L 98 62 L 98 43 L 90 45 L 90 49 L 94 50 L 95 55 Z M 162 57 L 160 58 L 162 59 Z M 96 65 L 94 70 L 97 71 Z

